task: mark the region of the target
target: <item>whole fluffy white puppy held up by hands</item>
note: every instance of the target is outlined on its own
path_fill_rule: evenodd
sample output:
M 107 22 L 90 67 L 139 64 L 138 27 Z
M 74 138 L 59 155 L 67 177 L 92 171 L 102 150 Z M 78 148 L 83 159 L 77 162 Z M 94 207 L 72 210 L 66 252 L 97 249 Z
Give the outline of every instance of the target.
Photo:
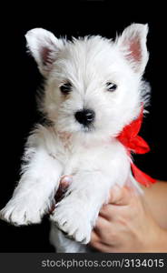
M 59 252 L 84 251 L 110 188 L 134 181 L 116 136 L 145 103 L 147 32 L 147 25 L 133 24 L 115 41 L 99 35 L 67 41 L 42 28 L 25 35 L 45 77 L 41 111 L 50 123 L 36 125 L 29 136 L 22 177 L 1 217 L 18 226 L 39 223 L 53 206 L 60 178 L 72 175 L 51 215 Z

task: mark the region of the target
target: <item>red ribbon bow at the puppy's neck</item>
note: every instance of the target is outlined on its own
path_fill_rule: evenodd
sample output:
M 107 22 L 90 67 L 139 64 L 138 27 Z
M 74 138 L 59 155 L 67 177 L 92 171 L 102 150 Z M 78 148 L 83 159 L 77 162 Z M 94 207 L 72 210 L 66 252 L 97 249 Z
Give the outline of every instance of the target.
M 140 116 L 138 116 L 130 125 L 123 128 L 123 131 L 119 136 L 118 140 L 126 147 L 129 154 L 131 152 L 136 154 L 145 154 L 150 151 L 150 147 L 143 140 L 141 136 L 138 136 L 140 128 L 142 126 L 143 106 L 141 109 Z M 134 178 L 142 185 L 149 187 L 152 183 L 156 182 L 156 179 L 143 173 L 138 167 L 131 162 Z

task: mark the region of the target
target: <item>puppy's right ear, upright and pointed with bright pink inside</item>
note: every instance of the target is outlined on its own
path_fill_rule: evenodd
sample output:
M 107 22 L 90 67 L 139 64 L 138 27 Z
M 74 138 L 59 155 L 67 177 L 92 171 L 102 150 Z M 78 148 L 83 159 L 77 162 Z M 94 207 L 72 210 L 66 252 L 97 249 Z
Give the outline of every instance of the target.
M 143 73 L 149 58 L 146 47 L 147 34 L 148 25 L 133 24 L 126 27 L 116 41 L 133 70 L 140 74 Z

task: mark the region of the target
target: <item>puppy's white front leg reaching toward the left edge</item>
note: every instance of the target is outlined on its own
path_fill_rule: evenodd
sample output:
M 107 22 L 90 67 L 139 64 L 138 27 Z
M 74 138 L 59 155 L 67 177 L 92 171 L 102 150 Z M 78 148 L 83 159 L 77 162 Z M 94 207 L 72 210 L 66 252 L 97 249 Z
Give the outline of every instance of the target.
M 62 166 L 44 147 L 36 147 L 14 195 L 0 217 L 16 226 L 39 223 L 54 200 Z

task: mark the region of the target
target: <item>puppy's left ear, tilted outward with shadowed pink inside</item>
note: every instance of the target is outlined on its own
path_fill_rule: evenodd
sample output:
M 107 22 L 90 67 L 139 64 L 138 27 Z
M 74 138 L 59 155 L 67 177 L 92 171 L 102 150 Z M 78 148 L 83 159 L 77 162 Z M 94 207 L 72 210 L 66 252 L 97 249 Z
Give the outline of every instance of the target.
M 43 28 L 34 28 L 25 35 L 27 48 L 38 65 L 43 76 L 47 76 L 56 60 L 63 40 L 57 39 L 51 32 Z

